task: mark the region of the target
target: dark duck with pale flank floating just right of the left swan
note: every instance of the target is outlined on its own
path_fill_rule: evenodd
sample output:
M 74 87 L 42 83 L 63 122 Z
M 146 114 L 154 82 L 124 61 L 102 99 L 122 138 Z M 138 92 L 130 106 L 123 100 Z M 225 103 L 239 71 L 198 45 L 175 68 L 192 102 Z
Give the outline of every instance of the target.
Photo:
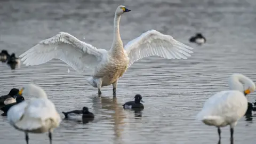
M 73 120 L 73 121 L 83 121 L 88 122 L 92 121 L 94 118 L 94 114 L 89 111 L 87 107 L 83 107 L 82 110 L 72 110 L 68 112 L 63 112 L 65 115 L 65 119 Z

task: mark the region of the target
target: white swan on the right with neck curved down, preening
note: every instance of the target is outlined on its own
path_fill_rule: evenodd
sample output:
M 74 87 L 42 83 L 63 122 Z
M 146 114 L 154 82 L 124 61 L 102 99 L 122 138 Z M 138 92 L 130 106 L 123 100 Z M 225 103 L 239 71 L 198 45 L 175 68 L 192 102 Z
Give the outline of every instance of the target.
M 247 110 L 245 95 L 255 90 L 255 84 L 242 74 L 231 75 L 228 84 L 230 90 L 218 92 L 209 98 L 197 114 L 197 119 L 206 125 L 218 127 L 219 139 L 220 127 L 230 125 L 231 140 L 233 140 L 234 127 Z

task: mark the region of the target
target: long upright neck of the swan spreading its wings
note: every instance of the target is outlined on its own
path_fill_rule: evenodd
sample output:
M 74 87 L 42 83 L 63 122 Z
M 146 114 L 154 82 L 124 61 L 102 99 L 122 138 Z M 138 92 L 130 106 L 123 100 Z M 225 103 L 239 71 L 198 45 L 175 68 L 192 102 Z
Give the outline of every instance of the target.
M 120 55 L 123 54 L 123 42 L 120 37 L 119 33 L 119 22 L 120 22 L 121 15 L 115 14 L 114 19 L 114 38 L 113 43 L 111 45 L 111 55 Z

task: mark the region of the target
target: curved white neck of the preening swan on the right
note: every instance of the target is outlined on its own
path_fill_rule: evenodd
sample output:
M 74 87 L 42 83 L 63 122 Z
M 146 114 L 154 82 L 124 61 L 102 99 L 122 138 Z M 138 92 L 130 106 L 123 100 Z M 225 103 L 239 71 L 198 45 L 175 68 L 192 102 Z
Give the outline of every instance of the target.
M 242 74 L 231 75 L 229 77 L 228 85 L 230 90 L 238 90 L 241 92 L 244 91 L 244 87 L 245 89 L 248 89 L 249 87 L 255 87 L 255 84 L 252 82 L 252 80 Z

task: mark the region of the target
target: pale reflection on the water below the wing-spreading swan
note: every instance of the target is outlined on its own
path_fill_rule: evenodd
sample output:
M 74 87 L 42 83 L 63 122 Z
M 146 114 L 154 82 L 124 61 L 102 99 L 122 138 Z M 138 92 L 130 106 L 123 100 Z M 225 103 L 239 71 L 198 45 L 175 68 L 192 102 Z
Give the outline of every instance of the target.
M 111 98 L 112 97 L 112 98 Z M 117 97 L 92 97 L 92 108 L 99 111 L 102 115 L 109 115 L 110 117 L 102 117 L 103 120 L 109 119 L 114 122 L 114 135 L 119 139 L 124 131 L 122 125 L 125 118 L 122 106 L 117 102 Z

